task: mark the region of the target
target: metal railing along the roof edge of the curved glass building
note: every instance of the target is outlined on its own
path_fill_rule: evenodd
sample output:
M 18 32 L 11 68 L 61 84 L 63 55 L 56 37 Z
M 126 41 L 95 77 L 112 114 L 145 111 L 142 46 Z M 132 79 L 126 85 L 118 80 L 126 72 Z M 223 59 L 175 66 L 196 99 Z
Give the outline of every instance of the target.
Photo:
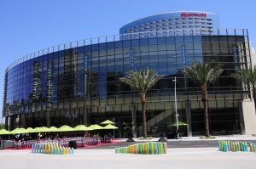
M 17 59 L 15 62 L 8 66 L 8 70 L 19 65 L 29 59 L 38 58 L 44 54 L 51 54 L 58 51 L 70 49 L 70 48 L 79 48 L 87 45 L 93 45 L 104 42 L 117 42 L 125 40 L 134 40 L 134 39 L 143 39 L 143 38 L 152 38 L 152 37 L 180 37 L 180 36 L 248 36 L 247 29 L 184 29 L 184 30 L 168 30 L 168 31 L 145 31 L 145 32 L 135 32 L 129 34 L 118 34 L 110 35 L 105 37 L 94 37 L 84 40 L 67 42 L 60 45 L 56 45 L 50 48 L 44 48 L 38 50 L 32 54 L 27 54 L 20 59 Z

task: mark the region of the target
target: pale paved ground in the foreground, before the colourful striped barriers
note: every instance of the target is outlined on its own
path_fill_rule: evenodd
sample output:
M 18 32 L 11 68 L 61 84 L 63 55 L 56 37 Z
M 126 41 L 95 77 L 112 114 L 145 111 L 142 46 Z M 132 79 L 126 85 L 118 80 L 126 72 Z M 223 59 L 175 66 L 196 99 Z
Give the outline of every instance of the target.
M 256 168 L 256 154 L 218 152 L 218 148 L 168 149 L 166 155 L 114 154 L 113 149 L 76 149 L 75 155 L 32 154 L 31 150 L 0 150 L 0 168 L 8 169 L 245 169 Z

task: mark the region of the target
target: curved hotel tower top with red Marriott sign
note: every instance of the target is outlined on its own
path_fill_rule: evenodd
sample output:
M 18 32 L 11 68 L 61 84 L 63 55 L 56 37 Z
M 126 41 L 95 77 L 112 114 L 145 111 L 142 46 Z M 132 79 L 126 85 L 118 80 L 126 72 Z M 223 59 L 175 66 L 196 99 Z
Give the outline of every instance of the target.
M 218 15 L 209 12 L 202 11 L 180 11 L 171 12 L 166 14 L 154 14 L 151 16 L 143 17 L 139 20 L 134 20 L 119 29 L 119 34 L 129 34 L 124 38 L 135 37 L 135 32 L 145 32 L 147 37 L 147 31 L 191 31 L 194 33 L 198 31 L 203 34 L 209 32 L 210 29 L 218 29 L 219 20 Z M 143 37 L 143 34 L 140 34 Z M 150 34 L 149 34 L 150 36 Z

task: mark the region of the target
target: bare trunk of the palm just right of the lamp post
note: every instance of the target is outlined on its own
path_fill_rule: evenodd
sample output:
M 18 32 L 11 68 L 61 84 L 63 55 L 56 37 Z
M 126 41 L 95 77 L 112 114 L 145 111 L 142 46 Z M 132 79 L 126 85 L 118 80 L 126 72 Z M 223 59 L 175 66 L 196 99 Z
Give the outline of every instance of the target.
M 202 102 L 204 104 L 205 134 L 206 134 L 206 137 L 210 137 L 207 85 L 203 85 L 201 87 L 201 90 L 202 90 Z

